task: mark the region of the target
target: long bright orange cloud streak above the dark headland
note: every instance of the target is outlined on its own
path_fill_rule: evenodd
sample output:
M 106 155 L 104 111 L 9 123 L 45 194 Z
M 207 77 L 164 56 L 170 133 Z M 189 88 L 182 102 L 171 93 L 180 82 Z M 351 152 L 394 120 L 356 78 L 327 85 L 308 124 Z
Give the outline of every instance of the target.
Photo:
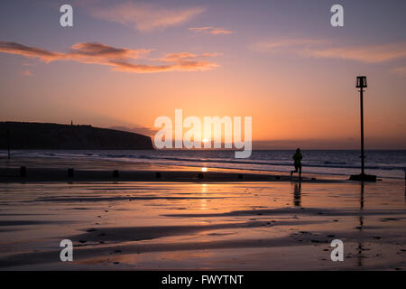
M 188 52 L 169 53 L 161 59 L 146 59 L 151 49 L 115 48 L 98 42 L 80 42 L 74 44 L 68 53 L 46 51 L 25 46 L 16 42 L 0 42 L 0 52 L 36 58 L 47 63 L 51 61 L 78 61 L 80 63 L 100 64 L 112 67 L 116 71 L 151 73 L 161 71 L 197 71 L 218 67 L 208 57 L 216 53 L 196 55 Z M 152 61 L 153 64 L 134 63 L 134 60 Z M 156 63 L 156 62 L 160 63 Z

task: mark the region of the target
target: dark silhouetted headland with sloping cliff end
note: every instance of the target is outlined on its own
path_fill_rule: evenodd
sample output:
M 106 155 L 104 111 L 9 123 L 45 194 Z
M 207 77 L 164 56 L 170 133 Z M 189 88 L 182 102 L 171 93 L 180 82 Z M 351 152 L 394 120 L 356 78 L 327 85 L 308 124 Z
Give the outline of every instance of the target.
M 150 150 L 151 137 L 83 125 L 0 122 L 0 149 Z

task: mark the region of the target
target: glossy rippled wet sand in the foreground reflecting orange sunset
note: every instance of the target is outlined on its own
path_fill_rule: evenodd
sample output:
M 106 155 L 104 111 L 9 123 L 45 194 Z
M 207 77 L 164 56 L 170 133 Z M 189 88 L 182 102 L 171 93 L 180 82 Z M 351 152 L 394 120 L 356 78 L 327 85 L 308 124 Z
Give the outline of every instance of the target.
M 406 269 L 402 180 L 4 182 L 0 195 L 1 270 Z

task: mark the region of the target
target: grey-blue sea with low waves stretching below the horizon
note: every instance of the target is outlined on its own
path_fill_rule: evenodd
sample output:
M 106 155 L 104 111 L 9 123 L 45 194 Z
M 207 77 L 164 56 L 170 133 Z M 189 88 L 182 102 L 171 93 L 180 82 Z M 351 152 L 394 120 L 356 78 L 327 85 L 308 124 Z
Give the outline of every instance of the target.
M 226 150 L 20 150 L 13 157 L 67 158 L 91 162 L 92 160 L 128 163 L 167 164 L 213 169 L 237 169 L 254 172 L 291 172 L 294 151 L 258 150 L 250 158 L 235 159 L 234 151 Z M 360 152 L 351 150 L 303 150 L 302 172 L 326 175 L 350 175 L 360 172 Z M 6 157 L 0 151 L 0 157 Z M 404 179 L 406 150 L 365 151 L 365 172 L 378 177 Z

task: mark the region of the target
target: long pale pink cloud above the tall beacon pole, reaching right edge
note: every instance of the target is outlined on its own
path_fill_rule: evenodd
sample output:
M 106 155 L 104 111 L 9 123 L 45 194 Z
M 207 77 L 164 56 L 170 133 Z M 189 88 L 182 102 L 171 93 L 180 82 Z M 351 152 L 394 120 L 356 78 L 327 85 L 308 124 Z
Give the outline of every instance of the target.
M 275 42 L 256 42 L 251 47 L 260 52 L 291 52 L 317 59 L 341 59 L 378 63 L 406 58 L 406 42 L 380 45 L 335 46 L 333 42 L 314 39 L 285 39 Z

